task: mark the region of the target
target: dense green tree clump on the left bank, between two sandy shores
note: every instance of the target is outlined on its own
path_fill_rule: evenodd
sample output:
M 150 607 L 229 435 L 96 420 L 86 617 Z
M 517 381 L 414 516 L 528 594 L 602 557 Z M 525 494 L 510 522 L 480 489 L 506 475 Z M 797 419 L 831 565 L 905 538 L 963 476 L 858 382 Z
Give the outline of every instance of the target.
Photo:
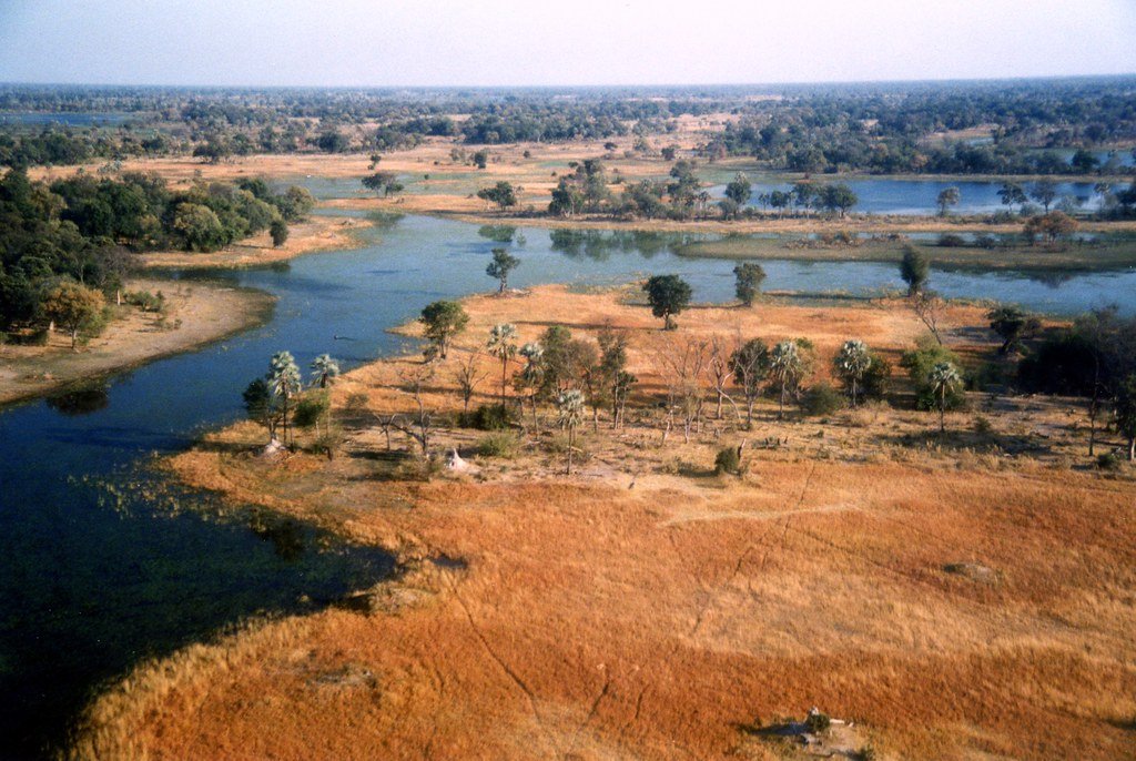
M 9 170 L 0 177 L 0 328 L 50 321 L 64 301 L 93 319 L 102 295 L 120 298 L 135 252 L 215 251 L 266 229 L 283 244 L 287 224 L 314 203 L 302 187 L 277 193 L 260 179 L 173 191 L 152 175 L 45 183 Z

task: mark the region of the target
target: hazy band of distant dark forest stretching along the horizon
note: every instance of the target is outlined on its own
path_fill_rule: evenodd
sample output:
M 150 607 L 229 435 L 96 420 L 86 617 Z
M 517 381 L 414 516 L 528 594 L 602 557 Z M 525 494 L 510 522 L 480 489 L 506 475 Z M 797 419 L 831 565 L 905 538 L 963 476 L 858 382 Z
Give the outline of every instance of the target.
M 0 166 L 382 152 L 429 139 L 636 135 L 636 150 L 648 152 L 648 136 L 665 142 L 686 115 L 720 115 L 698 150 L 709 161 L 751 157 L 805 173 L 1120 175 L 1134 172 L 1136 77 L 567 90 L 2 85 Z

